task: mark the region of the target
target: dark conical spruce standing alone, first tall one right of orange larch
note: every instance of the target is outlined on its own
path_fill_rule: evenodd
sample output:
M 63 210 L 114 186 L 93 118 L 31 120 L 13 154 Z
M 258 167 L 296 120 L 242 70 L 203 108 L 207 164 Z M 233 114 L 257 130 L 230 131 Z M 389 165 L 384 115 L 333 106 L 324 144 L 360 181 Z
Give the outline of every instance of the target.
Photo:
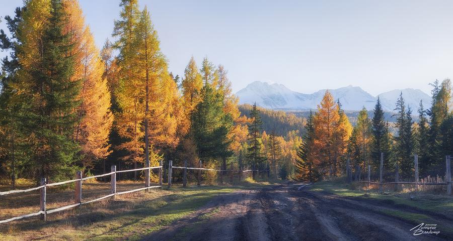
M 384 153 L 384 167 L 390 168 L 390 137 L 389 124 L 384 120 L 384 110 L 382 109 L 381 99 L 374 106 L 373 118 L 371 121 L 372 137 L 370 145 L 370 158 L 373 167 L 378 170 L 381 163 L 381 153 Z

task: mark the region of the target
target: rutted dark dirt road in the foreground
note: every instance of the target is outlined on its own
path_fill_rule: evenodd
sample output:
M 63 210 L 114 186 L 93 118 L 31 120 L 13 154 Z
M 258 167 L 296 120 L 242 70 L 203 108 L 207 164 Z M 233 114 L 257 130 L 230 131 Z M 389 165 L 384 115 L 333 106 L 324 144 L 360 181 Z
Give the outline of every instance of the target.
M 300 184 L 278 185 L 220 195 L 192 215 L 143 240 L 449 239 L 442 234 L 415 236 L 409 231 L 415 226 L 413 223 L 384 215 L 379 212 L 383 209 L 417 213 L 393 204 L 310 191 Z M 449 217 L 423 214 L 453 223 Z

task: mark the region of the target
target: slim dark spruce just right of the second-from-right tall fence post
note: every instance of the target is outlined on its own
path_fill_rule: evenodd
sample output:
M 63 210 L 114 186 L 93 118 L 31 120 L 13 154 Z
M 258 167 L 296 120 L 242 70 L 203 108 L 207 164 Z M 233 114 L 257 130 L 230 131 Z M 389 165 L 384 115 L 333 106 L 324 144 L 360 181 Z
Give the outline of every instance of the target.
M 420 100 L 420 107 L 418 108 L 418 129 L 416 133 L 416 152 L 418 155 L 418 165 L 420 173 L 425 175 L 429 167 L 432 165 L 429 158 L 429 126 L 428 119 L 426 118 L 426 110 L 423 108 L 423 102 Z

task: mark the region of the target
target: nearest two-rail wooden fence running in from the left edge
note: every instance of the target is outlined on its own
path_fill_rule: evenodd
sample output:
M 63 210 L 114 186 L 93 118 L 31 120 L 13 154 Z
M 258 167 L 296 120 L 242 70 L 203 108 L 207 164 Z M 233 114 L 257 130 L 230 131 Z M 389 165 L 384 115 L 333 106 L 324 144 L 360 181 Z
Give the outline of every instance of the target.
M 117 173 L 144 170 L 145 171 L 145 176 L 149 177 L 149 171 L 151 169 L 159 169 L 159 185 L 158 186 L 149 186 L 149 180 L 147 180 L 147 181 L 145 180 L 145 187 L 143 187 L 143 188 L 133 189 L 133 190 L 129 190 L 129 191 L 123 191 L 123 192 L 117 192 L 116 191 L 116 174 Z M 103 196 L 103 197 L 100 197 L 100 198 L 96 198 L 96 199 L 93 199 L 93 200 L 82 202 L 82 182 L 85 181 L 85 180 L 88 180 L 88 179 L 105 177 L 105 176 L 111 176 L 111 179 L 110 179 L 110 183 L 111 183 L 110 194 L 106 195 L 106 196 Z M 63 206 L 63 207 L 59 207 L 59 208 L 55 208 L 55 209 L 51 209 L 51 210 L 46 210 L 46 187 L 63 185 L 63 184 L 72 183 L 72 182 L 75 182 L 75 202 L 74 202 L 74 204 L 70 204 L 70 205 L 67 205 L 67 206 Z M 91 177 L 82 177 L 82 172 L 79 171 L 75 175 L 75 179 L 68 180 L 68 181 L 63 181 L 63 182 L 57 182 L 57 183 L 46 183 L 46 179 L 45 178 L 41 178 L 41 184 L 38 187 L 34 187 L 34 188 L 26 189 L 26 190 L 11 190 L 11 191 L 7 191 L 7 192 L 0 192 L 0 196 L 3 196 L 3 195 L 12 194 L 12 193 L 23 193 L 23 192 L 31 192 L 31 191 L 34 191 L 34 190 L 40 190 L 40 210 L 39 210 L 39 212 L 30 213 L 30 214 L 26 214 L 26 215 L 18 216 L 18 217 L 13 217 L 13 218 L 9 218 L 9 219 L 6 219 L 6 220 L 0 220 L 0 224 L 11 222 L 11 221 L 22 219 L 22 218 L 26 218 L 26 217 L 38 216 L 38 215 L 40 215 L 41 220 L 45 221 L 46 220 L 46 215 L 50 214 L 50 213 L 54 213 L 54 212 L 58 212 L 58 211 L 66 210 L 66 209 L 70 209 L 70 208 L 77 207 L 77 206 L 80 206 L 80 205 L 83 205 L 83 204 L 88 204 L 88 203 L 91 203 L 91 202 L 100 201 L 100 200 L 106 199 L 108 197 L 113 197 L 114 198 L 115 195 L 126 194 L 126 193 L 131 193 L 131 192 L 137 192 L 137 191 L 141 191 L 141 190 L 148 190 L 150 188 L 161 188 L 162 189 L 162 161 L 161 161 L 161 165 L 157 166 L 157 167 L 145 167 L 145 168 L 138 168 L 138 169 L 132 169 L 132 170 L 123 170 L 123 171 L 116 171 L 116 166 L 112 166 L 111 167 L 111 172 L 105 173 L 105 174 L 101 174 L 101 175 L 91 176 Z

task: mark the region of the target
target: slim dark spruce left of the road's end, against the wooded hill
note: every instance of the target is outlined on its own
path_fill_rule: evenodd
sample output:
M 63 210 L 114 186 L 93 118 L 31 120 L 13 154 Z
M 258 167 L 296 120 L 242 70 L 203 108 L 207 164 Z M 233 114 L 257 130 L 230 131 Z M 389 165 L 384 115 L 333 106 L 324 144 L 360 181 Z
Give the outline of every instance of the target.
M 250 118 L 252 122 L 249 124 L 249 148 L 247 158 L 252 164 L 252 169 L 257 169 L 261 165 L 266 157 L 263 155 L 261 150 L 261 116 L 260 111 L 256 108 L 256 103 L 253 104 L 252 110 L 250 111 Z M 253 179 L 255 179 L 255 172 L 253 172 Z

